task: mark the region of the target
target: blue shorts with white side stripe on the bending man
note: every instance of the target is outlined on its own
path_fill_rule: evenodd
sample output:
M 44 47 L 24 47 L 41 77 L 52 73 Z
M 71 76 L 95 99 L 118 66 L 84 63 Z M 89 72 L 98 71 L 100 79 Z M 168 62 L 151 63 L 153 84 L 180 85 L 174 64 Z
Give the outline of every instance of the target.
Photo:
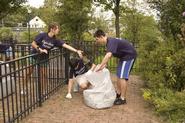
M 129 73 L 132 69 L 132 66 L 134 64 L 135 59 L 129 60 L 129 61 L 123 61 L 120 60 L 118 67 L 117 67 L 117 76 L 118 78 L 124 78 L 125 80 L 128 80 Z

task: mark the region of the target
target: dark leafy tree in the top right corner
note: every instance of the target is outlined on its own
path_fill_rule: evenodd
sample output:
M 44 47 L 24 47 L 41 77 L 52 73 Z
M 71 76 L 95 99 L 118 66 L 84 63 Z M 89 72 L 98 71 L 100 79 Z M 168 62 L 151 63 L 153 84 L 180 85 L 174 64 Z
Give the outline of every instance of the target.
M 173 36 L 177 39 L 180 33 L 180 25 L 185 22 L 182 16 L 185 11 L 185 2 L 183 0 L 148 0 L 150 6 L 156 9 L 160 17 L 160 29 L 166 36 Z

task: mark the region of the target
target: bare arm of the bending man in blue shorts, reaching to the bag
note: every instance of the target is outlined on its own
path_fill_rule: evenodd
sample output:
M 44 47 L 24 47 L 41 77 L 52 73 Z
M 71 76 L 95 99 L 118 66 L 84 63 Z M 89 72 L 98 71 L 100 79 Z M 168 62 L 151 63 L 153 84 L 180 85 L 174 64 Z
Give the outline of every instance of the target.
M 102 70 L 106 66 L 106 64 L 108 63 L 108 61 L 111 57 L 112 57 L 112 53 L 107 52 L 105 57 L 103 58 L 101 64 L 99 65 L 99 68 L 96 70 L 96 72 Z

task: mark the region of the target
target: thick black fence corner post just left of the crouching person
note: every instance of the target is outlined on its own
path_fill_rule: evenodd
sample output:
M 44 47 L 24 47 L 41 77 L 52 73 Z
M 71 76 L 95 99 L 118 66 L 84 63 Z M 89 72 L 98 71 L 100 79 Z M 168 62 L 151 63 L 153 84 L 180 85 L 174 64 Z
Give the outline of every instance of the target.
M 69 80 L 69 56 L 70 56 L 70 52 L 68 50 L 65 50 L 65 83 L 68 84 L 68 80 Z

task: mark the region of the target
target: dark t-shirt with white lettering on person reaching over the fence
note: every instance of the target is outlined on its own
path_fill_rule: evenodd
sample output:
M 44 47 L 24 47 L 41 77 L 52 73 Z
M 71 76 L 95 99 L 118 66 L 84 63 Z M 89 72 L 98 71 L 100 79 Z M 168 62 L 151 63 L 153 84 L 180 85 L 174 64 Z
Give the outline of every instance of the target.
M 54 47 L 61 47 L 64 44 L 64 41 L 62 40 L 57 40 L 55 37 L 49 37 L 48 33 L 38 34 L 34 41 L 40 48 L 46 49 L 47 51 L 50 51 Z M 32 53 L 37 53 L 37 50 L 33 48 Z M 49 57 L 49 54 L 43 53 L 41 57 L 46 59 Z

